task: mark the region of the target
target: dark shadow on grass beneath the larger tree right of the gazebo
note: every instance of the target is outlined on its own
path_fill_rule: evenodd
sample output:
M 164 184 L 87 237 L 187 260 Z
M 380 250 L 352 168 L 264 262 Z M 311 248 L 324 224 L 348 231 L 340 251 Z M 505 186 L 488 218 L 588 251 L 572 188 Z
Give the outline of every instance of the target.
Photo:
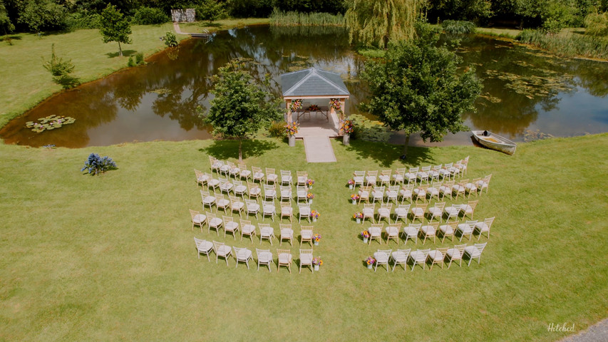
M 392 145 L 385 142 L 367 142 L 363 140 L 351 140 L 351 145 L 346 147 L 349 152 L 354 151 L 361 159 L 373 159 L 382 167 L 391 167 L 393 162 L 399 161 L 403 165 L 421 165 L 431 162 L 431 150 L 428 147 L 408 147 L 406 160 L 399 160 L 403 154 L 403 145 Z

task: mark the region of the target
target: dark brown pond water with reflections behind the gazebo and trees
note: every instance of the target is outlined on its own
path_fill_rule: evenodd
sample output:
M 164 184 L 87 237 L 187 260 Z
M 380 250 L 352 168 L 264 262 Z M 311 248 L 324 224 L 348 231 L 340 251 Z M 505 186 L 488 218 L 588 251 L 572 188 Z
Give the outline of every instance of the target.
M 100 81 L 49 98 L 0 131 L 6 143 L 65 147 L 113 145 L 149 140 L 210 138 L 197 114 L 212 98 L 208 76 L 231 58 L 252 59 L 254 77 L 279 75 L 316 66 L 341 73 L 351 92 L 347 113 L 367 91 L 358 79 L 363 58 L 346 43 L 342 28 L 272 28 L 254 26 L 220 32 L 205 43 L 190 40 L 175 51 L 150 58 Z M 492 130 L 517 141 L 539 130 L 555 136 L 608 131 L 608 63 L 562 60 L 506 41 L 471 36 L 458 53 L 483 79 L 477 113 L 465 124 Z M 280 86 L 275 82 L 279 93 Z M 326 103 L 322 103 L 326 105 Z M 76 119 L 71 125 L 34 133 L 26 122 L 48 115 Z M 402 142 L 398 133 L 392 142 Z M 469 145 L 470 133 L 448 135 L 433 145 Z M 422 145 L 414 139 L 413 145 Z

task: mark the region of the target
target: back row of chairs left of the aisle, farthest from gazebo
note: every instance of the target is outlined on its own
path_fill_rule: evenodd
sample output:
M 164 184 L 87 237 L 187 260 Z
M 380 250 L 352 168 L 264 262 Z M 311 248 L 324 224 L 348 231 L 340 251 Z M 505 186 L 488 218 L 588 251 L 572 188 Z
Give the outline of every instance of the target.
M 239 266 L 239 262 L 244 262 L 247 265 L 247 269 L 249 269 L 249 261 L 253 260 L 253 252 L 244 247 L 230 247 L 224 244 L 223 242 L 209 242 L 205 239 L 197 239 L 194 238 L 196 249 L 198 252 L 198 258 L 200 259 L 200 254 L 205 254 L 207 256 L 207 261 L 211 261 L 209 254 L 213 252 L 215 254 L 215 263 L 217 264 L 218 258 L 223 258 L 226 261 L 226 266 L 228 266 L 228 259 L 233 257 L 236 261 L 237 268 Z M 234 249 L 234 253 L 232 250 Z M 268 271 L 272 271 L 270 268 L 271 264 L 274 262 L 274 256 L 270 249 L 255 249 L 257 255 L 257 270 L 259 271 L 260 265 L 268 266 Z M 302 266 L 310 266 L 311 271 L 314 273 L 313 267 L 313 257 L 312 257 L 312 249 L 300 249 L 299 255 L 299 272 L 302 273 Z M 289 249 L 277 249 L 277 272 L 281 268 L 281 266 L 287 267 L 289 273 L 292 273 L 292 252 Z

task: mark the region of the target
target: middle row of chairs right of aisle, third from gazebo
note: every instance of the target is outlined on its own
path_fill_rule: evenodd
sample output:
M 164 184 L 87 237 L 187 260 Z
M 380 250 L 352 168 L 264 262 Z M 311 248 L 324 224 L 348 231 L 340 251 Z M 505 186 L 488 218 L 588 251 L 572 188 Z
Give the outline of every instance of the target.
M 449 222 L 450 219 L 457 221 L 460 214 L 463 215 L 463 219 L 465 217 L 473 219 L 478 202 L 479 200 L 476 199 L 468 201 L 466 204 L 452 204 L 448 207 L 445 207 L 445 202 L 436 202 L 433 207 L 428 207 L 428 203 L 416 203 L 413 206 L 412 204 L 398 204 L 394 210 L 392 203 L 381 203 L 377 211 L 376 203 L 366 203 L 363 210 L 361 210 L 361 214 L 363 214 L 363 222 L 365 222 L 365 219 L 369 219 L 372 223 L 376 223 L 375 217 L 377 216 L 378 222 L 386 219 L 390 224 L 391 215 L 395 218 L 395 222 L 403 219 L 408 223 L 409 215 L 411 215 L 411 222 L 414 222 L 416 219 L 424 222 L 425 217 L 427 217 L 429 223 L 433 222 L 433 219 L 439 219 L 439 222 L 443 222 L 444 216 L 446 217 L 445 222 Z

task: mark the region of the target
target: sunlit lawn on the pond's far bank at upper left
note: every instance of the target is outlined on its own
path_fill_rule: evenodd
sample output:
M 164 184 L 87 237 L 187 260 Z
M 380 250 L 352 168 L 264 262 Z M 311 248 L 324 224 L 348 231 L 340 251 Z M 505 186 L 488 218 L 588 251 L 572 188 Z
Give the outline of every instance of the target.
M 243 24 L 257 24 L 260 19 L 242 19 L 205 23 L 210 30 L 225 29 Z M 261 19 L 268 22 L 268 19 Z M 0 127 L 12 118 L 34 107 L 48 96 L 61 90 L 51 81 L 51 74 L 42 67 L 42 57 L 50 58 L 51 45 L 55 44 L 58 56 L 71 59 L 74 75 L 81 81 L 93 81 L 120 68 L 125 68 L 128 56 L 144 53 L 150 56 L 165 44 L 159 37 L 173 31 L 172 24 L 132 26 L 132 44 L 123 44 L 125 56 L 118 56 L 118 43 L 103 43 L 98 30 L 78 30 L 69 33 L 51 33 L 38 38 L 35 34 L 11 35 L 12 46 L 0 42 Z M 182 31 L 187 31 L 182 26 Z M 177 35 L 178 39 L 188 38 Z

